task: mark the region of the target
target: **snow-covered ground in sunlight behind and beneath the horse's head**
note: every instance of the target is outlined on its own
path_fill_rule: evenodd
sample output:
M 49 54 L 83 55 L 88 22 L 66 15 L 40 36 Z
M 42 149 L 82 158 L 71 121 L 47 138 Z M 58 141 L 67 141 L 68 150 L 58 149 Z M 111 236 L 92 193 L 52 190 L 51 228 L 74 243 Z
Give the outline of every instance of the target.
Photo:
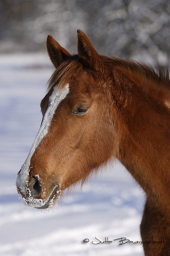
M 15 187 L 41 121 L 53 67 L 47 55 L 0 56 L 0 256 L 143 256 L 144 193 L 119 163 L 75 190 L 53 211 L 26 208 Z M 97 239 L 112 241 L 99 243 Z M 83 243 L 83 240 L 89 242 Z

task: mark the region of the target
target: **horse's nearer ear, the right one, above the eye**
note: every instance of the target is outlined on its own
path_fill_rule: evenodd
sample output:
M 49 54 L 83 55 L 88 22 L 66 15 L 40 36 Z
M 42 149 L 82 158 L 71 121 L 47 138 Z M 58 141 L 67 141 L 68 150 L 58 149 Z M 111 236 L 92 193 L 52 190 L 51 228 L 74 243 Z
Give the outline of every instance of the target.
M 88 68 L 92 67 L 97 70 L 97 64 L 100 58 L 99 54 L 96 52 L 95 48 L 93 48 L 88 37 L 81 30 L 77 30 L 77 37 L 78 53 L 84 65 Z

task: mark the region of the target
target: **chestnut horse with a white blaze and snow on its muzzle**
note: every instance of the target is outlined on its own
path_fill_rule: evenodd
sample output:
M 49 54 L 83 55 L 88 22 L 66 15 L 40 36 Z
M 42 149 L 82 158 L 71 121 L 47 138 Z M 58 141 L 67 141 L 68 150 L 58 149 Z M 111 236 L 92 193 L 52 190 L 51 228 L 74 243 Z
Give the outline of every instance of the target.
M 77 33 L 72 56 L 48 35 L 56 69 L 40 104 L 40 129 L 17 176 L 18 193 L 28 206 L 49 208 L 64 189 L 115 157 L 147 195 L 145 255 L 170 255 L 168 69 L 101 56 Z

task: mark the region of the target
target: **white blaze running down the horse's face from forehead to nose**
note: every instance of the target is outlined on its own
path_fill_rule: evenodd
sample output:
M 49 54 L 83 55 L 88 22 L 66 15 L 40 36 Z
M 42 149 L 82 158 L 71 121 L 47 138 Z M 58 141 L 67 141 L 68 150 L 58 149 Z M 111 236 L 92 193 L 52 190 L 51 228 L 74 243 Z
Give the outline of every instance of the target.
M 31 150 L 29 151 L 29 154 L 27 156 L 27 159 L 25 163 L 22 165 L 20 174 L 18 175 L 16 179 L 16 184 L 18 187 L 20 187 L 20 191 L 23 194 L 26 194 L 27 192 L 27 185 L 28 185 L 28 180 L 29 180 L 29 165 L 31 161 L 31 157 L 33 156 L 35 149 L 38 147 L 40 144 L 42 138 L 46 136 L 48 133 L 48 128 L 51 124 L 51 121 L 53 119 L 53 115 L 60 104 L 62 100 L 68 95 L 69 93 L 69 84 L 67 84 L 64 89 L 58 91 L 58 86 L 56 85 L 54 87 L 53 93 L 49 97 L 49 106 L 48 109 L 46 110 L 46 113 L 44 115 L 42 124 L 40 126 L 40 129 L 38 131 L 38 134 L 35 138 L 35 141 L 31 147 Z

